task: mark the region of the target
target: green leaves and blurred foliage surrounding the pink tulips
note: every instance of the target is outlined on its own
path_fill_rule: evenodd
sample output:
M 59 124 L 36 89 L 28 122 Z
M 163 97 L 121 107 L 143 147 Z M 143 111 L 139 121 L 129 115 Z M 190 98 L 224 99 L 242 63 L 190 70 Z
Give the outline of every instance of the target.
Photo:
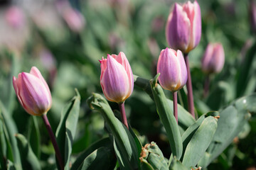
M 65 169 L 153 170 L 166 169 L 166 164 L 174 170 L 255 167 L 256 42 L 250 32 L 249 2 L 198 0 L 201 42 L 189 53 L 198 117 L 187 111 L 185 86 L 178 91 L 178 125 L 170 92 L 161 89 L 156 79 L 149 80 L 156 74 L 161 49 L 168 46 L 164 27 L 174 1 L 70 1 L 85 17 L 85 28 L 79 33 L 68 28 L 60 18 L 63 12 L 50 1 L 39 4 L 43 11 L 38 7 L 36 12 L 25 11 L 29 16 L 23 32 L 4 22 L 0 30 L 0 169 L 60 169 L 42 120 L 23 110 L 12 85 L 13 76 L 32 66 L 38 67 L 50 86 L 53 105 L 48 118 Z M 225 67 L 210 76 L 210 91 L 204 98 L 201 57 L 208 42 L 223 44 Z M 92 95 L 102 93 L 98 60 L 120 51 L 138 75 L 125 102 L 129 130 L 122 125 L 115 103 Z M 42 57 L 44 52 L 53 62 Z M 157 147 L 146 159 L 139 159 L 142 145 L 152 141 Z

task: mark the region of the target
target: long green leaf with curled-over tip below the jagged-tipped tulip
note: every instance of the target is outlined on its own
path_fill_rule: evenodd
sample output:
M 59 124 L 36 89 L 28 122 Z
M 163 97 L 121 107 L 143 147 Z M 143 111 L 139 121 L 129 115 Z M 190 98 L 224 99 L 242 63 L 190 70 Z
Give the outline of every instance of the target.
M 105 98 L 100 96 L 100 94 L 93 94 L 87 99 L 87 103 L 90 108 L 102 113 L 102 117 L 110 127 L 114 136 L 114 151 L 116 152 L 120 168 L 137 169 L 139 157 L 134 139 L 123 123 L 114 117 L 114 113 Z

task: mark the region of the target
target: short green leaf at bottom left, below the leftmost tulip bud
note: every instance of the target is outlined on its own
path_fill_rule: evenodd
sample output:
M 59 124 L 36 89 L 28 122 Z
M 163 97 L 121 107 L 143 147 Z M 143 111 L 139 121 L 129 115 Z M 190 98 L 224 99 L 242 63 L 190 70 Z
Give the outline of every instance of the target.
M 21 154 L 21 162 L 23 169 L 40 170 L 40 163 L 36 155 L 33 153 L 30 145 L 28 145 L 28 141 L 26 140 L 26 138 L 21 134 L 16 134 L 15 137 L 18 142 L 18 149 Z

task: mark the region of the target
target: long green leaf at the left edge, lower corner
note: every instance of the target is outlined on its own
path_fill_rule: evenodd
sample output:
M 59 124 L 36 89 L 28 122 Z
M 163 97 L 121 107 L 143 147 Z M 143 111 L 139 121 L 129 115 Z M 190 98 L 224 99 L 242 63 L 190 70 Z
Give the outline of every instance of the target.
M 4 107 L 3 103 L 0 101 L 0 111 L 1 111 L 1 117 L 4 122 L 4 126 L 6 127 L 6 136 L 8 135 L 9 137 L 9 142 L 11 144 L 11 154 L 14 157 L 14 166 L 15 168 L 21 169 L 21 158 L 20 154 L 18 152 L 18 147 L 17 147 L 17 141 L 14 135 L 18 132 L 16 128 L 16 124 L 14 123 L 13 118 L 10 117 L 9 113 L 6 111 L 6 108 Z

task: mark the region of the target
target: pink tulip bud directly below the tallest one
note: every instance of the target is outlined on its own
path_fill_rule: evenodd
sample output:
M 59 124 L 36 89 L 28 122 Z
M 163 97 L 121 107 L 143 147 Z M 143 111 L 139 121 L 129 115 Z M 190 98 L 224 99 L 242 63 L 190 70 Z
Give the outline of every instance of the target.
M 169 91 L 178 91 L 188 79 L 186 63 L 182 52 L 166 48 L 161 50 L 157 63 L 157 73 L 160 73 L 160 85 Z

